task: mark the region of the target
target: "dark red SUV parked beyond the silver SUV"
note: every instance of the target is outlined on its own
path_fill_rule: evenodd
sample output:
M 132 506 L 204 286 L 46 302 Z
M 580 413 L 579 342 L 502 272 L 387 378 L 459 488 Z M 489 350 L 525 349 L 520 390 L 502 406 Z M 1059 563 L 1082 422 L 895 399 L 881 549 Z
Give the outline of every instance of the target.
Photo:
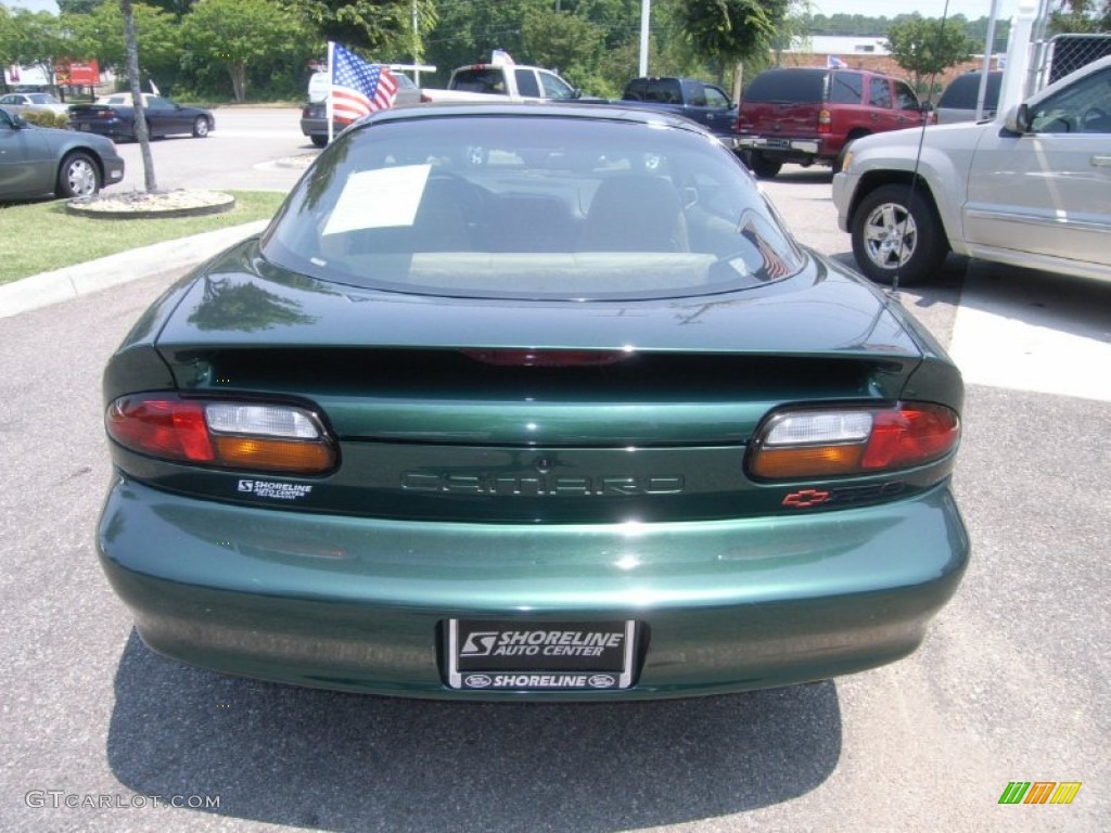
M 771 178 L 785 162 L 840 170 L 851 142 L 925 124 L 928 108 L 905 81 L 854 69 L 789 67 L 761 72 L 744 90 L 735 147 L 752 172 Z

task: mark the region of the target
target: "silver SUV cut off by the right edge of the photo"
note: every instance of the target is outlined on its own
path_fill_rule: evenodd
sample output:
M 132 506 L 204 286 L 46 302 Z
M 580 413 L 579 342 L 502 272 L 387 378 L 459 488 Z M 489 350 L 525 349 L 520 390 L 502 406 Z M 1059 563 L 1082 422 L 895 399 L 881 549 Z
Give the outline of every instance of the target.
M 1111 280 L 1111 58 L 993 122 L 853 142 L 838 225 L 873 280 L 938 273 L 950 251 Z

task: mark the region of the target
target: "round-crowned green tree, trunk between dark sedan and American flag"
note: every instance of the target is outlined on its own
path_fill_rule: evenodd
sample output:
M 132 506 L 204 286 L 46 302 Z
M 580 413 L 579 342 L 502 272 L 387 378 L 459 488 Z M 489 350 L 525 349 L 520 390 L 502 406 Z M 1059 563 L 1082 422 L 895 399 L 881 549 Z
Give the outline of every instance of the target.
M 297 52 L 304 30 L 269 0 L 199 0 L 181 21 L 194 62 L 223 67 L 236 101 L 247 98 L 248 69 Z

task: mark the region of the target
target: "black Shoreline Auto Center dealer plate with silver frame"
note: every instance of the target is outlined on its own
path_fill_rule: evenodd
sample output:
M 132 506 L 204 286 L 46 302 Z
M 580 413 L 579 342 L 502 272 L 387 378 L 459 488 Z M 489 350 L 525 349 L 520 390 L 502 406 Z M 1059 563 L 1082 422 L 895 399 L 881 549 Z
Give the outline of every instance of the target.
M 628 689 L 635 622 L 450 620 L 448 684 L 536 691 Z

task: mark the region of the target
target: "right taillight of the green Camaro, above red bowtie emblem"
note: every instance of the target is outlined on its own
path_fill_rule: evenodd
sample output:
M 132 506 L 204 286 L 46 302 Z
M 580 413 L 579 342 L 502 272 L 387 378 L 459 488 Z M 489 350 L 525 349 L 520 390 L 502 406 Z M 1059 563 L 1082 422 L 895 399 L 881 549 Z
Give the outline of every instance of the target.
M 943 405 L 788 410 L 753 439 L 749 471 L 765 480 L 875 474 L 940 460 L 960 441 L 960 418 Z

